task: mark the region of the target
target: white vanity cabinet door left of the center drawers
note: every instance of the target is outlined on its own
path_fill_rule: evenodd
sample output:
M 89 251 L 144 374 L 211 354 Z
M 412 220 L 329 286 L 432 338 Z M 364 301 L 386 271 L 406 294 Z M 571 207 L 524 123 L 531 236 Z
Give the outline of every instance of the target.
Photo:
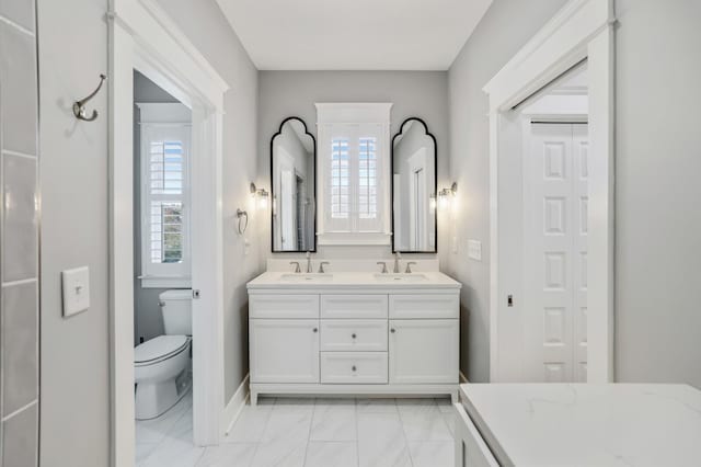
M 319 320 L 252 319 L 252 383 L 319 383 Z

